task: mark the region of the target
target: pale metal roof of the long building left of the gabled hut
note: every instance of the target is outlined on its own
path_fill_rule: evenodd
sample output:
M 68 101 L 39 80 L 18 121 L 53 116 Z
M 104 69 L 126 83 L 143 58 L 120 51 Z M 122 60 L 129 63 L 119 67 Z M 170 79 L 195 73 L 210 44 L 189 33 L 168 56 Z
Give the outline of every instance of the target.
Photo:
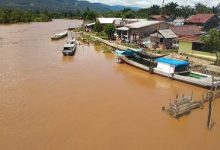
M 159 24 L 162 23 L 163 21 L 139 21 L 139 22 L 134 22 L 131 24 L 127 24 L 125 25 L 128 28 L 142 28 L 142 27 L 147 27 L 147 26 L 151 26 L 151 25 L 155 25 L 155 24 Z

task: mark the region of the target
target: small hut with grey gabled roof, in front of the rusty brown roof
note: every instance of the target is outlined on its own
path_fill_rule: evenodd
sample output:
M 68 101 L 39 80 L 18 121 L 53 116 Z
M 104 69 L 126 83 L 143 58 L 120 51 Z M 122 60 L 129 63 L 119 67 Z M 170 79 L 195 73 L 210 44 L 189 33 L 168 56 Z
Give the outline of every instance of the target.
M 177 35 L 171 29 L 159 30 L 150 35 L 151 48 L 156 48 L 155 45 L 160 49 L 172 49 L 177 38 Z

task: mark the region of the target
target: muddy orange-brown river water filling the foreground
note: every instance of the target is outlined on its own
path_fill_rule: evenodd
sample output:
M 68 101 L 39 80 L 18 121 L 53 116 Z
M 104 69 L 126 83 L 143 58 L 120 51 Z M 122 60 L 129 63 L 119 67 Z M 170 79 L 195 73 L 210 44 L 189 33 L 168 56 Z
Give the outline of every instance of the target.
M 117 64 L 100 46 L 63 57 L 65 39 L 50 36 L 80 23 L 0 26 L 1 150 L 220 149 L 220 101 L 211 132 L 207 104 L 179 120 L 161 111 L 176 93 L 205 89 Z

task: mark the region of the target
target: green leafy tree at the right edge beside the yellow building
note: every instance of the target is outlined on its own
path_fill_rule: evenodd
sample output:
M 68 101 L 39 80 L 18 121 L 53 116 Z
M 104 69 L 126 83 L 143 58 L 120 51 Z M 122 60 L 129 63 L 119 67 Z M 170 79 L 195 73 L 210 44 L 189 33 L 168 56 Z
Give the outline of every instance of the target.
M 208 35 L 202 37 L 202 41 L 216 54 L 216 65 L 219 65 L 220 31 L 211 29 Z

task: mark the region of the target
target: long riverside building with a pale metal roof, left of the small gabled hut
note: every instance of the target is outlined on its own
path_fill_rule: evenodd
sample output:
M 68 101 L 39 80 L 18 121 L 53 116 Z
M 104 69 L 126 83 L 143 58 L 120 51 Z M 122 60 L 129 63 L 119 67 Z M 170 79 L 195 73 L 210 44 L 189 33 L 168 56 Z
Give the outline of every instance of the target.
M 158 29 L 168 29 L 171 26 L 163 21 L 139 21 L 127 24 L 116 30 L 119 37 L 127 36 L 128 41 L 137 42 L 145 37 L 149 37 L 151 33 Z

